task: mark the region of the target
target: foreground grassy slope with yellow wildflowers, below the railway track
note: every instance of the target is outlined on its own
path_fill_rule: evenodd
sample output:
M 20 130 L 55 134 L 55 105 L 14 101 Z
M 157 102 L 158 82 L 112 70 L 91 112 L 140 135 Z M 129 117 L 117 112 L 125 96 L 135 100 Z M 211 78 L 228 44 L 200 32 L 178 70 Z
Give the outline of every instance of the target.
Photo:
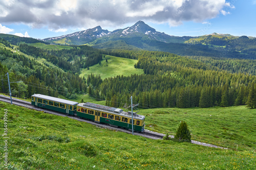
M 13 164 L 14 169 L 45 170 L 256 168 L 253 151 L 147 139 L 4 102 L 0 106 L 8 109 L 10 169 Z

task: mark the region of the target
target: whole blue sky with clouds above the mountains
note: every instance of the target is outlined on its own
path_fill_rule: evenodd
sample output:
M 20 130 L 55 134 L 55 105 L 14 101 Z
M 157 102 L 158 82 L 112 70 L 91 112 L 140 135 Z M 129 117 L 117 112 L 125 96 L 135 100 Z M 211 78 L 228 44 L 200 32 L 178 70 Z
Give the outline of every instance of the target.
M 256 0 L 0 0 L 0 33 L 33 38 L 144 21 L 174 36 L 256 37 Z

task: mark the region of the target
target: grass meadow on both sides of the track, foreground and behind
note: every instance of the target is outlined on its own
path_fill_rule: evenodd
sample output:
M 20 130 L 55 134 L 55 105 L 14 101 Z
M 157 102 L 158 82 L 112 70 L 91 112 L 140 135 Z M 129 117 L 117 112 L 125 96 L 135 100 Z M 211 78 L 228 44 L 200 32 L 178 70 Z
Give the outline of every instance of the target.
M 132 136 L 5 102 L 0 102 L 0 108 L 2 127 L 3 111 L 8 110 L 7 135 L 1 128 L 0 169 L 6 167 L 3 162 L 4 136 L 9 137 L 8 169 L 14 170 L 256 169 L 255 132 L 249 125 L 254 123 L 255 111 L 244 107 L 178 109 L 180 112 L 173 108 L 147 109 L 140 112 L 146 116 L 146 127 L 151 130 L 165 132 L 167 129 L 174 134 L 179 121 L 185 120 L 192 130 L 193 140 L 216 145 L 220 142 L 221 146 L 231 148 L 228 150 Z M 234 122 L 214 121 L 195 114 Z M 203 121 L 207 119 L 208 122 Z M 238 120 L 248 124 L 239 124 Z M 237 150 L 234 142 L 239 144 Z

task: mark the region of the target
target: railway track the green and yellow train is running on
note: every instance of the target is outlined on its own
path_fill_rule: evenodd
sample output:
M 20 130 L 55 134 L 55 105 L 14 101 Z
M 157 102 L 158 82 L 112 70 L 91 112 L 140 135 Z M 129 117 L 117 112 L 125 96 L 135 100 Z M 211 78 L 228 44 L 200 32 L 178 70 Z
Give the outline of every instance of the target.
M 0 99 L 4 99 L 4 100 L 8 100 L 10 101 L 10 98 L 9 97 L 4 97 L 4 96 L 0 96 Z M 16 103 L 20 103 L 20 104 L 24 104 L 24 105 L 28 105 L 30 107 L 35 107 L 35 106 L 32 106 L 31 103 L 27 103 L 27 102 L 24 102 L 24 101 L 20 101 L 20 100 L 15 100 L 15 99 L 12 99 L 13 102 L 16 102 Z M 38 107 L 35 107 L 35 108 L 38 108 Z M 68 114 L 64 114 L 64 113 L 61 113 L 61 112 L 56 112 L 56 111 L 53 111 L 53 110 L 49 110 L 49 109 L 45 109 L 45 108 L 40 108 L 40 109 L 43 109 L 43 110 L 47 110 L 47 111 L 51 111 L 51 112 L 54 112 L 54 113 L 58 113 L 58 114 L 62 114 L 62 115 L 68 115 Z M 76 117 L 78 119 L 82 119 L 80 118 L 79 116 L 77 115 L 68 115 L 68 116 L 72 116 L 72 117 Z M 92 121 L 93 122 L 93 121 Z M 104 123 L 105 124 L 105 123 Z M 106 125 L 106 124 L 105 124 Z M 163 136 L 161 135 L 157 135 L 157 134 L 153 134 L 153 133 L 150 133 L 150 132 L 140 132 L 139 134 L 144 134 L 144 135 L 148 135 L 148 136 L 153 136 L 153 137 L 157 137 L 157 138 L 163 138 Z

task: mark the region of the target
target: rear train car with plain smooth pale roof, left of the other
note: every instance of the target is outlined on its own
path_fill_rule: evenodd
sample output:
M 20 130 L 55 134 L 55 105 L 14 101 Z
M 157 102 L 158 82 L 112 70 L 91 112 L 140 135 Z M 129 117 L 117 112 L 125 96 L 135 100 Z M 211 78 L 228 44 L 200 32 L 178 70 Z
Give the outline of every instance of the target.
M 77 112 L 78 102 L 59 99 L 41 94 L 34 94 L 31 96 L 31 104 L 45 109 L 54 110 L 57 112 L 75 115 Z

